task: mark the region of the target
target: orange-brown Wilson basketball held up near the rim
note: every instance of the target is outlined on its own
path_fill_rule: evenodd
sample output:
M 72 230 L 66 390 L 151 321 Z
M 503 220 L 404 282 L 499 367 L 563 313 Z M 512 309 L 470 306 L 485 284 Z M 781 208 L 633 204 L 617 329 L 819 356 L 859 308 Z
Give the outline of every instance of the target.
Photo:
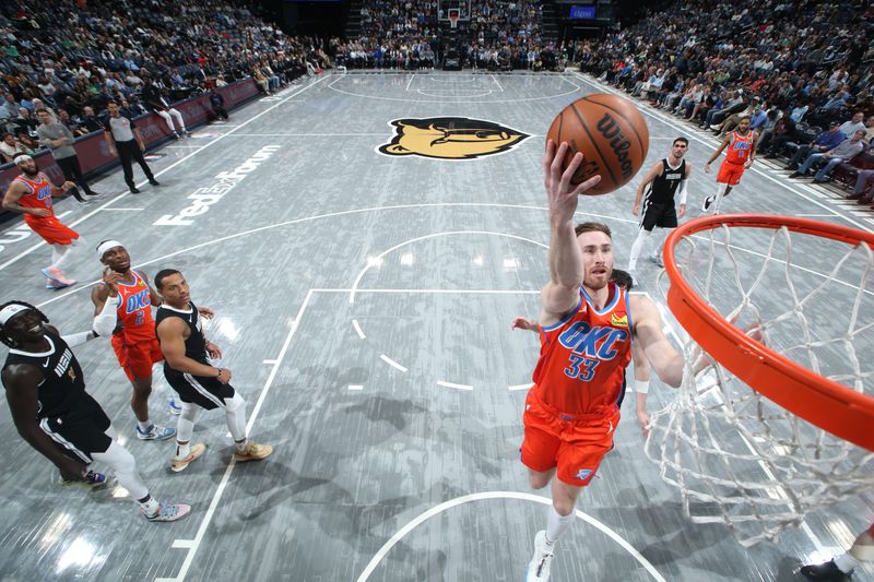
M 635 177 L 649 150 L 649 130 L 637 107 L 622 97 L 604 93 L 587 95 L 565 107 L 556 116 L 546 140 L 570 145 L 563 167 L 577 152 L 583 159 L 572 182 L 580 183 L 600 174 L 598 186 L 583 192 L 607 194 Z

